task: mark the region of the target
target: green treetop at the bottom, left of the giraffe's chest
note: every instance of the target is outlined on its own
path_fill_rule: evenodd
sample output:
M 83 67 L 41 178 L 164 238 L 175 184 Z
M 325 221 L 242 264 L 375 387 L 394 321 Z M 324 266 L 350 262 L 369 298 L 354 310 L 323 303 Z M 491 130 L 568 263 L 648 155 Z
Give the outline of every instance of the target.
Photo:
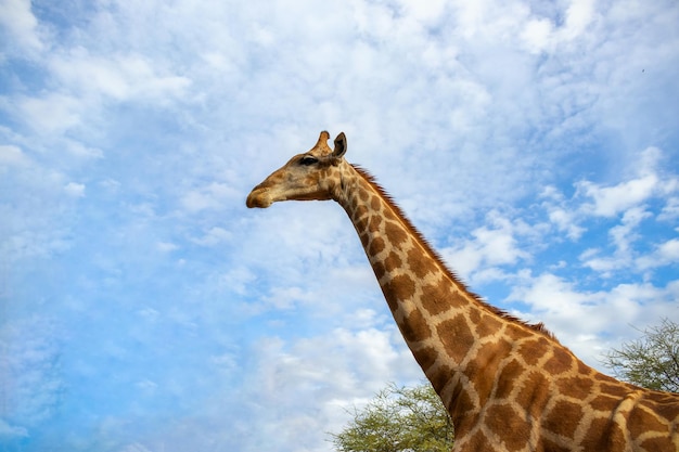
M 340 452 L 449 452 L 453 429 L 448 412 L 428 383 L 414 388 L 392 384 L 332 442 Z

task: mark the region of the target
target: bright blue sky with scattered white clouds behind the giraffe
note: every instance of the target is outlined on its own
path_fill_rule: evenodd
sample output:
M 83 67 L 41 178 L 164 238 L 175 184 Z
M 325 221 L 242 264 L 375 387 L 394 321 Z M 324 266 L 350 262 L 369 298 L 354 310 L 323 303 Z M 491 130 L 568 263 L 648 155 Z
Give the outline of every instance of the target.
M 0 0 L 0 450 L 330 451 L 405 349 L 348 138 L 450 267 L 587 363 L 679 321 L 679 5 Z

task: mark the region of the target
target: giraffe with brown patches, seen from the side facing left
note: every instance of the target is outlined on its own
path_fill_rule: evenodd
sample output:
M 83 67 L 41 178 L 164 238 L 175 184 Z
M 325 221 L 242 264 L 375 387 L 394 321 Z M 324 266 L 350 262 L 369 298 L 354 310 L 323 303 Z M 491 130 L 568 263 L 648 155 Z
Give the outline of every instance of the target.
M 347 212 L 414 359 L 450 413 L 453 451 L 679 452 L 679 395 L 618 382 L 543 325 L 471 293 L 375 180 L 330 148 L 294 156 L 247 207 L 334 199 Z

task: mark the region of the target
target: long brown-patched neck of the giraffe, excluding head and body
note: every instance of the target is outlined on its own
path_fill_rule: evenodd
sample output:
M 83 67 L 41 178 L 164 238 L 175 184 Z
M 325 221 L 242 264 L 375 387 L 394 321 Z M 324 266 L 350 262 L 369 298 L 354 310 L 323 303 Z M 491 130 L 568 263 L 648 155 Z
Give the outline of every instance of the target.
M 483 395 L 461 397 L 463 388 L 472 387 L 467 371 L 477 359 L 488 358 L 479 350 L 484 341 L 503 341 L 509 351 L 502 336 L 512 322 L 446 269 L 370 176 L 349 166 L 342 182 L 336 201 L 354 223 L 396 323 L 434 389 L 451 412 L 463 399 L 463 404 L 482 403 Z

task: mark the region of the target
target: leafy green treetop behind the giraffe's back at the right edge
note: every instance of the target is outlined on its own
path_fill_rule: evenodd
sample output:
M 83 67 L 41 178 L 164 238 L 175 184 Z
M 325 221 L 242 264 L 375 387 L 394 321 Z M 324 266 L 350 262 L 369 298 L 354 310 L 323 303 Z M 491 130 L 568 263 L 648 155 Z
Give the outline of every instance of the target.
M 679 392 L 679 324 L 663 319 L 642 333 L 640 339 L 607 352 L 604 365 L 633 385 Z

